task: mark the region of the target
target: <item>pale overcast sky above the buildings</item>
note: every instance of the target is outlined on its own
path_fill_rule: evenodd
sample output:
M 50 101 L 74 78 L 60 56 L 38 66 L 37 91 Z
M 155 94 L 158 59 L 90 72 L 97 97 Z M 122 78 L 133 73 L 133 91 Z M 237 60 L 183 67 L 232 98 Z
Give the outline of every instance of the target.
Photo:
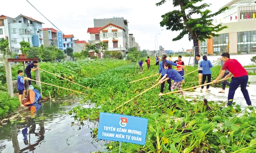
M 133 34 L 135 41 L 139 43 L 140 49 L 155 50 L 158 46 L 163 46 L 164 50 L 178 51 L 182 48 L 192 49 L 193 42 L 188 41 L 185 35 L 179 41 L 172 41 L 178 36 L 178 31 L 166 30 L 166 27 L 160 27 L 161 16 L 172 11 L 174 8 L 172 0 L 162 5 L 155 4 L 160 0 L 28 0 L 36 7 L 46 18 L 48 18 L 64 34 L 73 34 L 76 39 L 90 40 L 88 28 L 93 28 L 93 19 L 120 17 L 126 19 L 129 33 Z M 207 9 L 216 12 L 231 0 L 204 0 L 204 3 L 212 4 Z M 27 0 L 2 1 L 0 14 L 11 18 L 16 18 L 20 14 L 34 18 L 43 22 L 43 28 L 56 29 L 46 18 L 44 18 L 36 9 L 31 6 Z M 222 15 L 216 17 L 220 20 Z M 215 18 L 214 18 L 215 20 Z M 162 30 L 158 32 L 159 30 Z M 157 35 L 157 41 L 155 36 Z M 159 47 L 158 47 L 159 48 Z

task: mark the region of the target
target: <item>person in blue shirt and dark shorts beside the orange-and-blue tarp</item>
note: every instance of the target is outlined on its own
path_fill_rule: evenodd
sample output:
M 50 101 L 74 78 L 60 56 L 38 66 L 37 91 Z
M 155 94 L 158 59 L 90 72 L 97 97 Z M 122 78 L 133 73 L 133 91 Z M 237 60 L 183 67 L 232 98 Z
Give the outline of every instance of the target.
M 24 89 L 25 79 L 30 80 L 30 78 L 28 78 L 28 77 L 23 77 L 22 74 L 23 74 L 23 71 L 18 70 L 17 83 L 18 83 L 19 101 L 20 102 L 25 96 L 25 91 L 26 91 Z M 24 106 L 24 105 L 21 104 L 21 106 Z

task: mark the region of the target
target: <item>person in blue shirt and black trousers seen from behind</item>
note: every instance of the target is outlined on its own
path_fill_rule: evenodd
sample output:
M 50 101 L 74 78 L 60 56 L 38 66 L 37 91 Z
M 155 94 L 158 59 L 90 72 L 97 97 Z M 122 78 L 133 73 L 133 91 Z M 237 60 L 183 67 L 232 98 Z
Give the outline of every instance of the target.
M 211 82 L 211 67 L 212 67 L 212 63 L 207 60 L 207 56 L 204 55 L 203 56 L 203 61 L 201 61 L 200 63 L 200 67 L 203 67 L 203 79 L 202 79 L 202 84 L 204 84 L 204 82 L 206 81 L 206 77 L 207 77 L 207 83 Z M 210 85 L 206 86 L 206 92 L 209 91 L 209 87 Z M 201 87 L 200 91 L 203 91 L 204 86 Z

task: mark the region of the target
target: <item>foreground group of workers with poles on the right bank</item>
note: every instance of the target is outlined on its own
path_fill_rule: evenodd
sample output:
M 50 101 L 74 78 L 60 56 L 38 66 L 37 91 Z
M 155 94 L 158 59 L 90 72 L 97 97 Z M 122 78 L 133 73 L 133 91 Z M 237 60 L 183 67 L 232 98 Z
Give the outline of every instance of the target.
M 158 58 L 158 57 L 157 57 Z M 178 56 L 178 60 L 172 62 L 171 60 L 167 60 L 167 56 L 163 55 L 162 61 L 159 65 L 158 74 L 162 76 L 159 84 L 161 84 L 161 91 L 159 95 L 162 95 L 164 92 L 164 84 L 165 81 L 169 84 L 169 90 L 173 91 L 175 88 L 181 90 L 182 83 L 184 83 L 184 68 L 186 72 L 188 72 L 184 62 L 181 60 L 181 56 Z M 200 55 L 196 55 L 196 59 L 198 60 L 198 77 L 199 77 L 199 85 L 205 84 L 206 78 L 207 83 L 211 82 L 211 67 L 213 67 L 212 63 L 207 60 L 207 56 L 203 56 L 203 60 L 201 60 Z M 172 65 L 177 66 L 177 70 L 172 68 Z M 219 76 L 213 81 L 213 83 L 218 82 L 220 78 L 223 78 L 222 81 L 222 90 L 219 93 L 225 93 L 226 85 L 229 86 L 228 93 L 228 103 L 227 105 L 232 105 L 235 90 L 240 86 L 243 96 L 246 100 L 246 103 L 249 107 L 251 107 L 251 101 L 249 98 L 248 90 L 246 89 L 248 83 L 248 73 L 245 68 L 236 60 L 230 59 L 229 53 L 221 54 L 221 66 L 222 70 Z M 232 77 L 231 82 L 227 82 L 229 77 Z M 174 83 L 171 84 L 171 79 L 174 80 Z M 209 90 L 210 85 L 206 86 L 206 92 Z M 203 91 L 204 86 L 201 87 L 200 91 Z M 182 91 L 180 91 L 181 95 L 185 99 L 185 95 Z

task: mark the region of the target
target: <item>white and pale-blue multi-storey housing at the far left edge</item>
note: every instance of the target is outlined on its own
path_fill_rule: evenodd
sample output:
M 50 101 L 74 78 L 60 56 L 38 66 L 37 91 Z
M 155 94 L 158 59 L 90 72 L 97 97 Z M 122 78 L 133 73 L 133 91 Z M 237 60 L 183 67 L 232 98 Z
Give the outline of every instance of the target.
M 0 23 L 2 25 L 0 26 L 0 37 L 8 39 L 10 50 L 13 53 L 21 53 L 19 50 L 21 41 L 27 41 L 34 47 L 44 44 L 42 32 L 44 23 L 40 21 L 24 15 L 19 15 L 16 18 L 1 15 Z

